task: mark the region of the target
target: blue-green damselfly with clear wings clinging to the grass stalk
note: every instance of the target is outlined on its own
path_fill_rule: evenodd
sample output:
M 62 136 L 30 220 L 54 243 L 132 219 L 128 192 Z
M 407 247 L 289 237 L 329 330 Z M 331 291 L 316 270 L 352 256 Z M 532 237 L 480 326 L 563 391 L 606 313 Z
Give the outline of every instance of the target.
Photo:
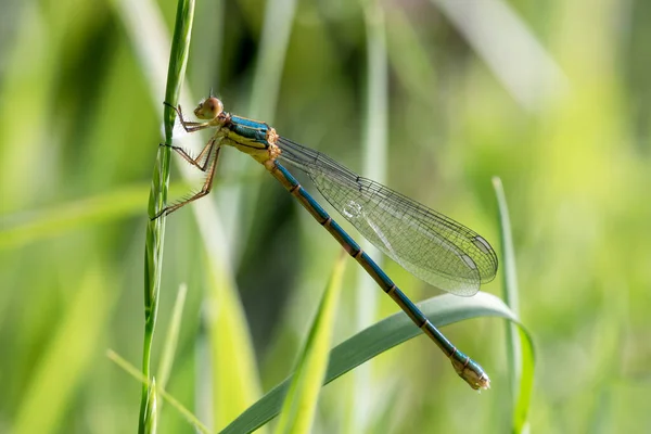
M 221 146 L 237 148 L 263 164 L 301 202 L 416 326 L 434 341 L 472 388 L 489 387 L 490 380 L 482 367 L 458 350 L 430 322 L 281 162 L 307 174 L 323 197 L 373 245 L 406 270 L 438 289 L 470 296 L 478 291 L 481 283 L 493 280 L 497 271 L 497 256 L 484 238 L 418 202 L 356 175 L 318 151 L 280 137 L 265 123 L 225 112 L 224 104 L 215 97 L 203 100 L 194 110 L 194 115 L 204 122 L 188 122 L 180 105 L 173 108 L 186 131 L 206 128 L 215 128 L 216 131 L 196 157 L 179 146 L 171 146 L 188 163 L 207 173 L 207 177 L 200 192 L 167 206 L 154 218 L 208 194 Z

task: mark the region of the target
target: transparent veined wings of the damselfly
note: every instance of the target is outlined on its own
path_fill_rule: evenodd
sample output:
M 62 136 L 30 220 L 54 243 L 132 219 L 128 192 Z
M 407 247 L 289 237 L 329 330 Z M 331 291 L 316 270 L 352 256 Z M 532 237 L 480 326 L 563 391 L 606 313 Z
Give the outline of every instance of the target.
M 476 232 L 318 151 L 285 138 L 278 145 L 281 161 L 309 175 L 342 216 L 413 276 L 457 295 L 474 295 L 495 278 L 495 251 Z

